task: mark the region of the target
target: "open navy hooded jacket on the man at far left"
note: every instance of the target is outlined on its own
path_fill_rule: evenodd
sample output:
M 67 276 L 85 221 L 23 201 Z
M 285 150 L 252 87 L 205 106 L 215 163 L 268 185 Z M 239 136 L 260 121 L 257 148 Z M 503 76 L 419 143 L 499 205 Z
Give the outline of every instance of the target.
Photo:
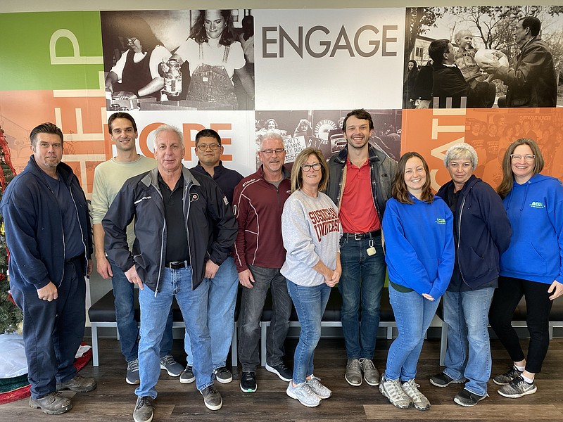
M 57 172 L 70 191 L 77 212 L 84 244 L 82 268 L 85 276 L 92 252 L 86 197 L 68 165 L 60 162 Z M 49 176 L 44 174 L 32 155 L 25 170 L 14 177 L 6 188 L 0 204 L 10 250 L 10 283 L 20 289 L 43 288 L 51 281 L 60 286 L 63 281 L 63 213 L 45 177 Z

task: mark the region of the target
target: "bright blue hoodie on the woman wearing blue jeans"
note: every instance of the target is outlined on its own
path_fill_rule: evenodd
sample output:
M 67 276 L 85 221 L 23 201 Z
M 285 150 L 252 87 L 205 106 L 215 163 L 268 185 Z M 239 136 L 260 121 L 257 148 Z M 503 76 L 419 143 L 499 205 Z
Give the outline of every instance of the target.
M 455 249 L 453 215 L 438 197 L 413 204 L 387 201 L 383 217 L 389 280 L 438 300 L 448 288 Z

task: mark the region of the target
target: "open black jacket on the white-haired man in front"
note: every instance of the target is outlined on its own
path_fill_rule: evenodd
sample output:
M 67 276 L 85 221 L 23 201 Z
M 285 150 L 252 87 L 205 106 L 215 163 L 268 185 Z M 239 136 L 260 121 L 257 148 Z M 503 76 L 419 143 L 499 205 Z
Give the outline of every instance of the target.
M 210 177 L 191 173 L 186 167 L 182 167 L 181 177 L 193 290 L 203 280 L 207 260 L 220 265 L 229 256 L 236 237 L 236 220 L 229 201 Z M 130 252 L 126 229 L 133 218 L 136 238 Z M 102 225 L 108 258 L 123 271 L 135 265 L 141 281 L 156 294 L 165 267 L 167 231 L 179 229 L 166 224 L 158 167 L 125 181 Z M 217 227 L 215 240 L 214 227 Z

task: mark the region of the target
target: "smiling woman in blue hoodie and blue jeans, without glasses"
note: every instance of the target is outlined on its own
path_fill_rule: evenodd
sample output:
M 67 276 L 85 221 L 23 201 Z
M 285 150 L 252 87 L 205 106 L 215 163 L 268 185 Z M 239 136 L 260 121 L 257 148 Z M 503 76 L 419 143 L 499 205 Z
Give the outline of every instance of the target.
M 389 300 L 399 331 L 389 347 L 379 390 L 400 409 L 430 408 L 415 383 L 417 363 L 438 302 L 452 276 L 453 215 L 432 194 L 428 165 L 419 153 L 400 158 L 386 204 L 383 232 Z

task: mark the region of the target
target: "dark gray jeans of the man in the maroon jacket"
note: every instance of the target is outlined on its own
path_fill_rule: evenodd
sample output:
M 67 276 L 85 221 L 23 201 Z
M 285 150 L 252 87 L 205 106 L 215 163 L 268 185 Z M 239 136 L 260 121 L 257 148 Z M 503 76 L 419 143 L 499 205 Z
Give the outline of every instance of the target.
M 243 372 L 255 371 L 260 364 L 260 318 L 268 288 L 272 290 L 272 320 L 266 334 L 266 362 L 275 366 L 283 362 L 284 342 L 289 330 L 291 298 L 287 293 L 286 278 L 279 268 L 248 265 L 254 277 L 253 288 L 242 289 L 241 315 L 239 316 L 239 359 Z

